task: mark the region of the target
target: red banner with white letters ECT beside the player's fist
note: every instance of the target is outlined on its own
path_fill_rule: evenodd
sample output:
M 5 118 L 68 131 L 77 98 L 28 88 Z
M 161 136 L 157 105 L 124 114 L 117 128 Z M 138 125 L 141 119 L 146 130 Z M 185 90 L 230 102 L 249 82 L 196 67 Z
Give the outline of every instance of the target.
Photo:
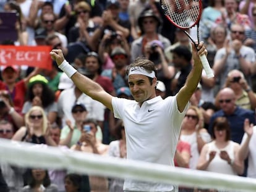
M 51 70 L 51 46 L 0 45 L 0 65 L 28 65 Z

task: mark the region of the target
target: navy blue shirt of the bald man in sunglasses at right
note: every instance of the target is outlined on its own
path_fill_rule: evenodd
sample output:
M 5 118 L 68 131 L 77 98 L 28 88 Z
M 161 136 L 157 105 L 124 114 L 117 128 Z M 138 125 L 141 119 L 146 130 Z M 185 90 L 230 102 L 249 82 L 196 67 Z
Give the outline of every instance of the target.
M 237 106 L 236 110 L 231 115 L 226 115 L 223 110 L 220 110 L 211 116 L 209 124 L 209 133 L 211 135 L 213 135 L 213 122 L 217 117 L 226 117 L 228 119 L 231 128 L 231 140 L 239 144 L 241 143 L 242 136 L 244 135 L 244 120 L 249 119 L 250 123 L 255 125 L 254 111 L 242 109 Z

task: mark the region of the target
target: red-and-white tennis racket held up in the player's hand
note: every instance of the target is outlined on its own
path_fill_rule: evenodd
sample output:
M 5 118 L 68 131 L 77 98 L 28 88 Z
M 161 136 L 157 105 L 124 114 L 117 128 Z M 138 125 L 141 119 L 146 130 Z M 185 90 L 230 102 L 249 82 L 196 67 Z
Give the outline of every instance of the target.
M 199 41 L 199 21 L 202 14 L 201 0 L 160 0 L 161 8 L 167 19 L 177 28 L 181 28 L 190 38 L 197 48 L 198 44 L 187 33 L 187 29 L 197 25 L 197 41 Z M 209 62 L 205 54 L 199 56 L 203 65 L 203 69 L 207 74 L 207 78 L 214 77 Z

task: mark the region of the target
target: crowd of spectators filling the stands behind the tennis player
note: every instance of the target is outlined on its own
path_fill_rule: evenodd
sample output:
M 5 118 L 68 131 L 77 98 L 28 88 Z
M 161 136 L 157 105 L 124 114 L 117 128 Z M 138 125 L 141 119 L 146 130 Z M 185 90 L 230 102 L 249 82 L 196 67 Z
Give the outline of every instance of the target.
M 256 1 L 208 0 L 203 7 L 200 38 L 215 77 L 203 71 L 190 99 L 175 165 L 256 178 Z M 190 40 L 159 1 L 2 0 L 0 11 L 18 13 L 17 38 L 0 45 L 62 49 L 78 72 L 119 98 L 132 99 L 126 67 L 137 57 L 155 63 L 163 99 L 192 69 Z M 195 28 L 187 32 L 196 36 Z M 122 121 L 52 66 L 1 66 L 0 138 L 126 158 Z M 122 191 L 119 178 L 0 165 L 0 191 Z

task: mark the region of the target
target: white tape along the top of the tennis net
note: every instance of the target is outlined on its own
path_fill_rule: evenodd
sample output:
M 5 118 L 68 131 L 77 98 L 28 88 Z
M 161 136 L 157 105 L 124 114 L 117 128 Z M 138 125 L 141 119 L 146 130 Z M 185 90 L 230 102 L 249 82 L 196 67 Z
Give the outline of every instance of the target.
M 0 162 L 21 167 L 67 169 L 90 175 L 133 178 L 147 182 L 170 183 L 189 187 L 256 191 L 256 180 L 252 178 L 103 157 L 96 154 L 70 151 L 69 149 L 3 139 L 0 139 Z

